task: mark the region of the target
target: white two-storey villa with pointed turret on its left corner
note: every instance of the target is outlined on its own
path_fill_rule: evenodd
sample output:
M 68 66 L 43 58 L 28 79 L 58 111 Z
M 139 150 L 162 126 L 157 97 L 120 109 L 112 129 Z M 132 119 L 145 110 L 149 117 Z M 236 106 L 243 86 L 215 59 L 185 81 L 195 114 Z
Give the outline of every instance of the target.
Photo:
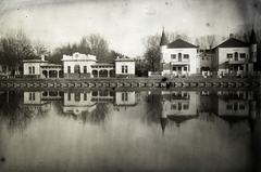
M 160 53 L 160 70 L 163 75 L 185 76 L 197 74 L 196 45 L 182 39 L 169 43 L 163 30 Z

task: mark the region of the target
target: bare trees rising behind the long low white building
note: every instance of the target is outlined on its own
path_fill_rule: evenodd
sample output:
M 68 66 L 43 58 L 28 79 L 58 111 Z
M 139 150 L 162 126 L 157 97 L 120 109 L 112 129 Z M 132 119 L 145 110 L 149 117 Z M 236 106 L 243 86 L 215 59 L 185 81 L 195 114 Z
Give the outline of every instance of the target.
M 20 69 L 22 71 L 23 59 L 39 59 L 46 56 L 49 63 L 62 64 L 64 54 L 72 55 L 75 52 L 96 55 L 98 62 L 112 63 L 123 54 L 109 50 L 109 42 L 99 34 L 83 37 L 77 43 L 67 43 L 55 48 L 52 52 L 39 40 L 32 41 L 23 30 L 12 30 L 0 39 L 0 64 L 5 66 L 5 71 Z

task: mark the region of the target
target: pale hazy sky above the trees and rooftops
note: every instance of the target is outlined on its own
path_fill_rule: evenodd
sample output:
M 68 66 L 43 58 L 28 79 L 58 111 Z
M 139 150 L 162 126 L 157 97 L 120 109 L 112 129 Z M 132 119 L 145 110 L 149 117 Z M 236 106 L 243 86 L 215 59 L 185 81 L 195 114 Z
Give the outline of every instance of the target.
M 142 56 L 142 39 L 165 31 L 217 38 L 261 28 L 261 0 L 1 0 L 0 37 L 22 29 L 50 50 L 100 34 L 109 49 Z M 217 40 L 216 43 L 221 43 Z

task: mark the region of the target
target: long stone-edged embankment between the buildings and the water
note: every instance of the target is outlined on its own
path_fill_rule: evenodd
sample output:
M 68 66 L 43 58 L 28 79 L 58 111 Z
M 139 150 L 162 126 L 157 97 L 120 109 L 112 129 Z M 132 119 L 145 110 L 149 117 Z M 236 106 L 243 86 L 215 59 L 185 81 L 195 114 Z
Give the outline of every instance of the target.
M 89 78 L 89 79 L 26 79 L 0 80 L 0 88 L 259 88 L 261 77 L 249 78 Z

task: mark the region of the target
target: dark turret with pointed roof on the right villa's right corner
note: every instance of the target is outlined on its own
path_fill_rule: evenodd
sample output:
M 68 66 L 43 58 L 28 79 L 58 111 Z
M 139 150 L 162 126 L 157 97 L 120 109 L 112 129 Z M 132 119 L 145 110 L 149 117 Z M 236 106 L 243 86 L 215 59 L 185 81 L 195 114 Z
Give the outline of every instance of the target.
M 257 44 L 258 44 L 257 37 L 252 28 L 250 40 L 249 40 L 249 62 L 250 63 L 257 62 Z

